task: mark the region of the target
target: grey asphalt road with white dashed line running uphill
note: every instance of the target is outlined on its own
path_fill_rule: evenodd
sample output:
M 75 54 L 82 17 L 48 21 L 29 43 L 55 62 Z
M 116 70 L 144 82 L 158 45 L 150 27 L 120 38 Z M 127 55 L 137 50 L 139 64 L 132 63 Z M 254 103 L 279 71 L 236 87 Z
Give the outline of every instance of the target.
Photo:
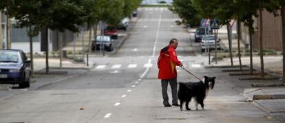
M 231 78 L 203 67 L 207 56 L 199 55 L 199 45 L 191 43 L 190 34 L 176 25 L 176 14 L 167 8 L 140 8 L 138 14 L 129 38 L 116 54 L 91 58 L 95 67 L 84 76 L 2 100 L 0 122 L 275 121 L 231 89 L 227 82 Z M 193 74 L 220 78 L 205 100 L 206 110 L 180 111 L 162 105 L 156 59 L 171 38 L 178 38 L 178 58 Z M 197 80 L 178 68 L 178 81 Z

